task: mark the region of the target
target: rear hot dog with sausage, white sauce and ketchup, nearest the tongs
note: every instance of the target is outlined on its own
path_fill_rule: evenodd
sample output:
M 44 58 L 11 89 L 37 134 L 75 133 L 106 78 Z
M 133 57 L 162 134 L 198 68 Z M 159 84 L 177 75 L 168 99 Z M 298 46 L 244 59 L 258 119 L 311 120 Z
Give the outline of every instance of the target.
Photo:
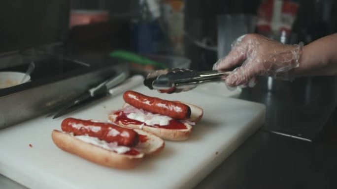
M 167 140 L 186 140 L 203 115 L 200 107 L 126 91 L 122 109 L 109 114 L 117 125 L 142 129 Z

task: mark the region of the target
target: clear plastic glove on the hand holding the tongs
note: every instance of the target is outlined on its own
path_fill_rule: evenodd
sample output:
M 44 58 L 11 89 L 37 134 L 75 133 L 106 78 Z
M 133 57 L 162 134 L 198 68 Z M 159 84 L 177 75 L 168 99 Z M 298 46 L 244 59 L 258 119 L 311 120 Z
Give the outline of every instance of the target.
M 236 39 L 232 51 L 213 65 L 213 70 L 237 67 L 226 78 L 229 87 L 254 86 L 258 75 L 291 80 L 291 70 L 299 66 L 303 43 L 284 45 L 259 34 L 246 34 Z

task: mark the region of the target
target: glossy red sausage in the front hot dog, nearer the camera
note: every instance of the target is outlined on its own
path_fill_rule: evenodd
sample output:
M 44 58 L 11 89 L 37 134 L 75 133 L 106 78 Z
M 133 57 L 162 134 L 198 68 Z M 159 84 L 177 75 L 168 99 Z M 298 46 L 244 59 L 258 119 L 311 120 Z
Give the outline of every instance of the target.
M 132 129 L 90 120 L 67 118 L 63 120 L 61 128 L 62 131 L 74 135 L 89 135 L 106 142 L 117 142 L 122 146 L 135 146 L 139 140 L 138 134 Z

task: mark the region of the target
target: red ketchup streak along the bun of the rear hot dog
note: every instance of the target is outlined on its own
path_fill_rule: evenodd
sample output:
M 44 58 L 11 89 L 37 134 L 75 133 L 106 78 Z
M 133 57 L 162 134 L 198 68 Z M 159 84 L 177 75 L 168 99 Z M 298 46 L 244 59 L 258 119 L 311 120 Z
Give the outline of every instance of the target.
M 127 115 L 123 111 L 117 111 L 114 114 L 117 115 L 116 122 L 121 121 L 124 125 L 128 125 L 128 124 L 141 125 L 141 124 L 144 124 L 145 126 L 155 127 L 155 128 L 160 128 L 160 129 L 187 129 L 185 124 L 183 124 L 180 121 L 177 121 L 175 119 L 169 120 L 169 125 L 165 125 L 165 126 L 146 125 L 143 122 L 128 118 Z

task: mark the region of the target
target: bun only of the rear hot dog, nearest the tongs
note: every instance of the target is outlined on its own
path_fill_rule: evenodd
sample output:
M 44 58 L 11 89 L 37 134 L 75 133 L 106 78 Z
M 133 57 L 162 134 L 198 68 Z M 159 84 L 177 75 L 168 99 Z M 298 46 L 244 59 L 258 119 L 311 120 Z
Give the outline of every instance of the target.
M 198 122 L 202 118 L 202 115 L 203 115 L 202 108 L 192 105 L 192 104 L 186 104 L 186 105 L 189 106 L 191 109 L 191 115 L 186 120 L 188 122 L 194 122 L 194 123 Z M 125 103 L 122 108 L 126 108 L 128 106 L 130 105 L 128 103 Z M 110 113 L 108 115 L 108 118 L 110 121 L 122 127 L 132 128 L 132 129 L 142 129 L 143 131 L 150 132 L 163 139 L 173 140 L 173 141 L 188 139 L 193 129 L 193 127 L 189 123 L 186 123 L 186 122 L 183 123 L 186 126 L 186 129 L 165 129 L 165 128 L 155 128 L 155 127 L 146 126 L 142 124 L 123 124 L 122 121 L 117 121 L 117 115 L 114 113 Z

